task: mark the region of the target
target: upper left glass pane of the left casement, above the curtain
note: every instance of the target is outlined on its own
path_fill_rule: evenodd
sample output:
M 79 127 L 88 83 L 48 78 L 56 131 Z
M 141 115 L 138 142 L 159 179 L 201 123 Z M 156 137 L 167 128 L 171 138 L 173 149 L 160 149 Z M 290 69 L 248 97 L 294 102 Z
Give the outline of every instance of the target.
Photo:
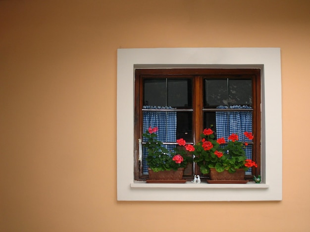
M 165 78 L 144 79 L 145 106 L 167 106 L 167 86 Z

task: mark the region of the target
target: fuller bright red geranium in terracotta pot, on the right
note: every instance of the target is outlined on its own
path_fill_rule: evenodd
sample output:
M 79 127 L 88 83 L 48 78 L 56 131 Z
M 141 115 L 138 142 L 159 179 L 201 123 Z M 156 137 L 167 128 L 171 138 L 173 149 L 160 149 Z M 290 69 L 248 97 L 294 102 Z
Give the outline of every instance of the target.
M 253 139 L 252 132 L 244 132 L 249 139 Z M 225 138 L 215 140 L 214 131 L 210 128 L 204 129 L 201 134 L 202 140 L 196 145 L 186 144 L 179 140 L 187 151 L 195 155 L 203 174 L 210 173 L 211 180 L 244 180 L 245 171 L 257 164 L 246 157 L 245 148 L 247 143 L 241 143 L 237 134 L 231 134 L 227 141 Z

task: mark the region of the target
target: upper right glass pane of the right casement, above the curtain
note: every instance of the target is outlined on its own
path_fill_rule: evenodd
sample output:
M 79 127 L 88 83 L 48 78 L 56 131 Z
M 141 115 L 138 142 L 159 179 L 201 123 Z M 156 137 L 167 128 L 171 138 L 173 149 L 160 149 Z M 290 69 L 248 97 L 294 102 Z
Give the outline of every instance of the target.
M 252 80 L 229 80 L 229 105 L 252 106 Z

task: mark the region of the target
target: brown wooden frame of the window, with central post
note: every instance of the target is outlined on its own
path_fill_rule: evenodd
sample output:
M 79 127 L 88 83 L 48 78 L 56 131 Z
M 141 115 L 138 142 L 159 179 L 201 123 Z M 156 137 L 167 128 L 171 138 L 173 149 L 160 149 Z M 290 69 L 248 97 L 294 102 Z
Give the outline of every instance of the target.
M 136 69 L 135 70 L 135 116 L 134 116 L 134 179 L 136 181 L 144 181 L 148 175 L 143 175 L 142 162 L 139 160 L 139 139 L 142 139 L 143 131 L 143 79 L 144 78 L 192 78 L 192 93 L 193 93 L 193 139 L 197 143 L 201 138 L 203 128 L 203 114 L 204 112 L 215 112 L 215 109 L 203 108 L 203 80 L 208 78 L 248 78 L 252 80 L 252 96 L 253 96 L 253 155 L 252 159 L 258 164 L 257 168 L 253 168 L 252 175 L 246 175 L 246 179 L 253 179 L 253 175 L 260 175 L 260 104 L 261 104 L 261 70 L 260 69 Z M 179 109 L 180 110 L 180 109 Z M 225 110 L 227 112 L 232 110 Z M 236 110 L 234 110 L 235 112 Z M 237 110 L 238 111 L 238 110 Z M 192 176 L 184 176 L 185 179 L 190 180 L 193 175 L 201 174 L 197 164 L 193 166 Z

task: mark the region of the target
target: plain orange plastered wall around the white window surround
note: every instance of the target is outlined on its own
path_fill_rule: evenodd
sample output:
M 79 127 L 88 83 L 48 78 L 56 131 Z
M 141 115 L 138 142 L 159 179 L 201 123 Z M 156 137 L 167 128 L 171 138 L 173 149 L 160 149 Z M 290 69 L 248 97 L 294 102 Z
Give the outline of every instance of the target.
M 309 12 L 308 0 L 1 0 L 0 231 L 310 231 Z M 116 51 L 137 47 L 281 48 L 282 201 L 116 201 Z

